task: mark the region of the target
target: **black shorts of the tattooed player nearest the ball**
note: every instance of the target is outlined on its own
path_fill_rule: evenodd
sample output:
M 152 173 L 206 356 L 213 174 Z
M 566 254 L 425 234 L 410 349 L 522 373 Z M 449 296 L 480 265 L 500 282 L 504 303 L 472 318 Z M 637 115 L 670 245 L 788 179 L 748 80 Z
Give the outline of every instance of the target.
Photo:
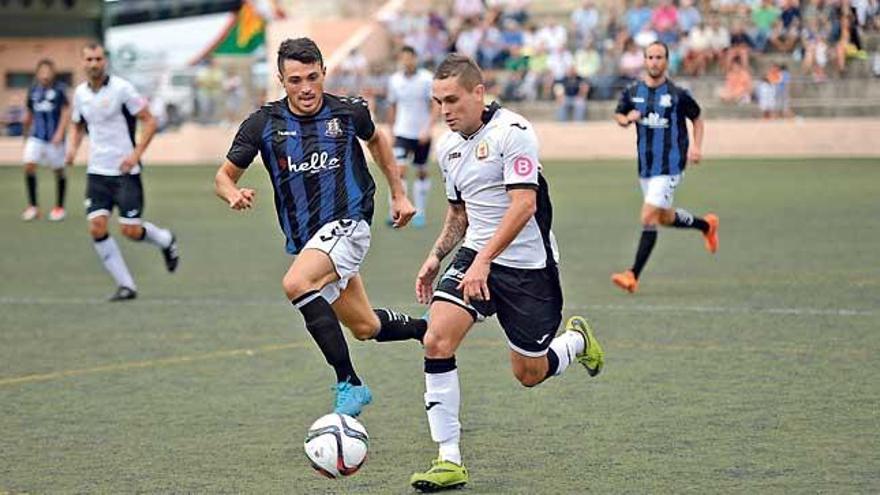
M 458 250 L 437 282 L 433 300 L 463 308 L 474 321 L 497 314 L 511 349 L 527 357 L 546 354 L 562 323 L 558 267 L 529 270 L 493 263 L 489 270 L 489 300 L 465 304 L 458 284 L 476 255 L 473 249 Z

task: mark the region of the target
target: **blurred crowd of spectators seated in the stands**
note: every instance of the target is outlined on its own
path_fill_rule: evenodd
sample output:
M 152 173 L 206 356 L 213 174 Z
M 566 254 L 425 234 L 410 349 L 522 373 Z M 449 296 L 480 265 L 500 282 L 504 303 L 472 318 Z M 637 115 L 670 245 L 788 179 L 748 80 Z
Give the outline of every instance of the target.
M 670 47 L 672 76 L 716 77 L 718 96 L 733 104 L 754 102 L 762 94 L 766 102 L 769 92 L 759 90 L 768 80 L 784 92 L 793 75 L 817 82 L 840 77 L 848 60 L 868 56 L 862 33 L 880 26 L 878 3 L 583 0 L 568 15 L 539 17 L 530 0 L 454 0 L 445 10 L 384 21 L 395 45 L 415 48 L 424 67 L 436 66 L 450 51 L 464 53 L 484 68 L 493 98 L 555 100 L 560 119 L 580 120 L 589 100 L 613 99 L 640 76 L 642 50 L 656 40 Z M 778 54 L 772 55 L 778 63 L 755 74 L 770 65 L 760 63 L 765 54 Z M 382 74 L 394 69 L 380 67 L 370 75 L 363 64 L 358 67 L 361 84 L 378 93 Z M 785 83 L 778 81 L 780 71 Z M 350 88 L 353 75 L 343 70 L 342 86 Z M 787 97 L 780 93 L 774 101 Z M 767 115 L 785 114 L 779 104 Z

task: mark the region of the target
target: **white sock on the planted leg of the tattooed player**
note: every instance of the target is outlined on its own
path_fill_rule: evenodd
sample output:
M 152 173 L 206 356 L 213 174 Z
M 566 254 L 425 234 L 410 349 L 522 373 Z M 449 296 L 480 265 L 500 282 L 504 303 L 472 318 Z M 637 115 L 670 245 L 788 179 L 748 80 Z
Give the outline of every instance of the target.
M 425 373 L 425 409 L 431 439 L 440 444 L 440 459 L 461 465 L 461 423 L 458 410 L 461 391 L 458 386 L 458 370 L 445 373 Z

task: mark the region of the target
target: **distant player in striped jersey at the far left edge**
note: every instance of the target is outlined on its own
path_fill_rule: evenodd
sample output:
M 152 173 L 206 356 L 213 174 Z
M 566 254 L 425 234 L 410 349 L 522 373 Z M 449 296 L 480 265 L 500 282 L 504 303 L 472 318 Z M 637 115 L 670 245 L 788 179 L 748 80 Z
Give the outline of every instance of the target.
M 28 90 L 24 114 L 24 178 L 27 186 L 28 207 L 21 219 L 29 222 L 40 217 L 37 205 L 37 164 L 55 172 L 55 207 L 49 220 L 64 220 L 64 195 L 67 177 L 64 174 L 64 136 L 70 123 L 70 103 L 67 87 L 55 80 L 55 64 L 48 59 L 37 62 L 36 81 Z

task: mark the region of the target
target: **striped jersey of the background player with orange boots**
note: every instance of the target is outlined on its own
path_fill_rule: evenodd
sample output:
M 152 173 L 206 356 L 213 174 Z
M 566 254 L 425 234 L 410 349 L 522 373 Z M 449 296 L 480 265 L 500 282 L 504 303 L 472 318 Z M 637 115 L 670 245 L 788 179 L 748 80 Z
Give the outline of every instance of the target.
M 669 80 L 656 88 L 639 81 L 623 90 L 615 111 L 626 115 L 632 110 L 642 114 L 636 122 L 639 177 L 682 173 L 689 145 L 685 119 L 700 116 L 696 100 Z

